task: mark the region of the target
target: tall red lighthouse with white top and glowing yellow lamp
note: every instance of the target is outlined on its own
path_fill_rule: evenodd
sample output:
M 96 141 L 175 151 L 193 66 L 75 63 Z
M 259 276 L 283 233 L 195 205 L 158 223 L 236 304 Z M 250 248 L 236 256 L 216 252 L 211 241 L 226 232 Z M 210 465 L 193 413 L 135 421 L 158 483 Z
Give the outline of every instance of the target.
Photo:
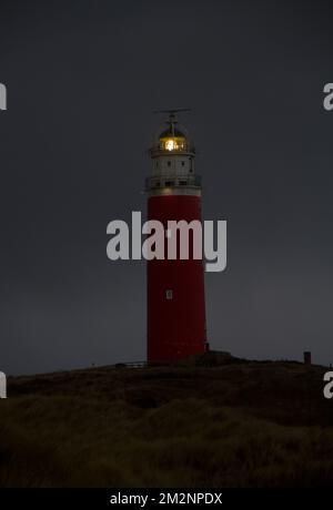
M 201 178 L 194 172 L 195 150 L 176 112 L 150 149 L 151 175 L 147 178 L 148 220 L 160 221 L 168 237 L 168 221 L 201 221 Z M 192 246 L 191 246 L 192 245 Z M 204 268 L 190 257 L 148 263 L 148 361 L 170 363 L 206 350 Z

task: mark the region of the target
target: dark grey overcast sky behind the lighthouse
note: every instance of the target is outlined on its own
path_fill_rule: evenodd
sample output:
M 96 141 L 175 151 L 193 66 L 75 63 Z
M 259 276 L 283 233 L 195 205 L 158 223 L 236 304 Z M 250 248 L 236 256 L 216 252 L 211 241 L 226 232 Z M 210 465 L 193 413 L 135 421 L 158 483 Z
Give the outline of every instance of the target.
M 0 9 L 0 369 L 144 359 L 144 263 L 111 263 L 105 228 L 144 211 L 151 111 L 168 106 L 193 109 L 203 216 L 228 221 L 211 346 L 333 363 L 330 3 Z

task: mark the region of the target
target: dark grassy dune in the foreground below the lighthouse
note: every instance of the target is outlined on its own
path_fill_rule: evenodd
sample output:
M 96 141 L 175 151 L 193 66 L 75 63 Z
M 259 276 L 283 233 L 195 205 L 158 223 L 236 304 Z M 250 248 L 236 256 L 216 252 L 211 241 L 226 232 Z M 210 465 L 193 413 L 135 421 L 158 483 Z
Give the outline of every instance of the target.
M 332 484 L 324 371 L 244 361 L 10 378 L 0 486 Z

